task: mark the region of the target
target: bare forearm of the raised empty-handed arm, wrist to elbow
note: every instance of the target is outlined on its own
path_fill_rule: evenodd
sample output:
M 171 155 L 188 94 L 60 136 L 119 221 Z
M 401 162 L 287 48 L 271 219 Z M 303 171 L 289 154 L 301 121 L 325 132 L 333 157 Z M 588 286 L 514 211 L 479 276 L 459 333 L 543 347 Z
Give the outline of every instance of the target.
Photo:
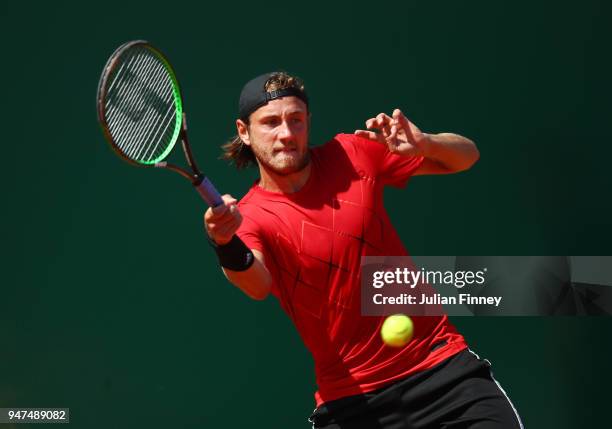
M 425 134 L 423 156 L 449 172 L 469 169 L 480 157 L 480 152 L 473 141 L 459 134 L 440 133 Z

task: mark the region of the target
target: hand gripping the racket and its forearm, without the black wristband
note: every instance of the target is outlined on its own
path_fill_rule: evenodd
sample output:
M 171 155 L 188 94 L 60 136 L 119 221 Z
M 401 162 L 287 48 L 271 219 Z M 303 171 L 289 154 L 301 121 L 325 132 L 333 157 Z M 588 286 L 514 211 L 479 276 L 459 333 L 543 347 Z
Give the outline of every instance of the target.
M 236 199 L 230 195 L 224 195 L 223 205 L 208 208 L 204 213 L 204 227 L 210 239 L 218 246 L 218 250 L 224 251 L 225 245 L 234 238 L 236 231 L 242 223 L 242 216 L 238 210 Z M 240 243 L 242 243 L 240 241 Z M 241 252 L 247 252 L 246 246 L 236 246 Z M 262 300 L 270 293 L 272 276 L 266 268 L 263 254 L 256 249 L 250 249 L 253 253 L 253 263 L 246 269 L 231 269 L 222 266 L 225 277 L 249 297 Z M 232 252 L 237 250 L 232 249 Z M 240 260 L 241 255 L 236 255 Z

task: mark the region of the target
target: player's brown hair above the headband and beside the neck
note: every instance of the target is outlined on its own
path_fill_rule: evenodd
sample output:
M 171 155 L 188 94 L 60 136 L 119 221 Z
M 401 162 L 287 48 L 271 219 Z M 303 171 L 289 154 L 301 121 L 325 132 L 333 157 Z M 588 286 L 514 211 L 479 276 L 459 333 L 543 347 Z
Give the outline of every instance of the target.
M 304 91 L 304 83 L 299 77 L 291 76 L 285 72 L 274 73 L 266 82 L 266 92 L 276 91 L 285 88 L 296 88 Z M 249 118 L 245 120 L 249 126 Z M 236 168 L 242 169 L 251 165 L 257 165 L 257 159 L 250 146 L 246 145 L 240 136 L 232 137 L 227 143 L 221 146 L 223 153 L 221 159 L 233 162 Z

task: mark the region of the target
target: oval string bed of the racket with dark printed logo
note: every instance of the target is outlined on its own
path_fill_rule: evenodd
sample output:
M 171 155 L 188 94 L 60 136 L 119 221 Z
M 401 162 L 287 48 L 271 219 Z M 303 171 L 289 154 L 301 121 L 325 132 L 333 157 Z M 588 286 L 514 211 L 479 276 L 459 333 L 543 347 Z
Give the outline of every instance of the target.
M 125 52 L 109 77 L 105 117 L 118 149 L 128 158 L 154 163 L 174 144 L 180 128 L 178 89 L 164 62 L 152 51 Z

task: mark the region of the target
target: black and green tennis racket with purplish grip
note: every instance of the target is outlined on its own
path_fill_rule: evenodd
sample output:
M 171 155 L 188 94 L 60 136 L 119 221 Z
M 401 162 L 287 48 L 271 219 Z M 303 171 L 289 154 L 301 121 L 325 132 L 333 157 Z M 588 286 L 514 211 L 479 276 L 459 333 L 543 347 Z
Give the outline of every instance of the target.
M 209 206 L 223 204 L 195 162 L 179 84 L 158 49 L 144 40 L 121 45 L 102 71 L 97 108 L 104 136 L 117 155 L 133 165 L 174 171 L 189 179 Z M 179 140 L 189 170 L 165 161 Z

